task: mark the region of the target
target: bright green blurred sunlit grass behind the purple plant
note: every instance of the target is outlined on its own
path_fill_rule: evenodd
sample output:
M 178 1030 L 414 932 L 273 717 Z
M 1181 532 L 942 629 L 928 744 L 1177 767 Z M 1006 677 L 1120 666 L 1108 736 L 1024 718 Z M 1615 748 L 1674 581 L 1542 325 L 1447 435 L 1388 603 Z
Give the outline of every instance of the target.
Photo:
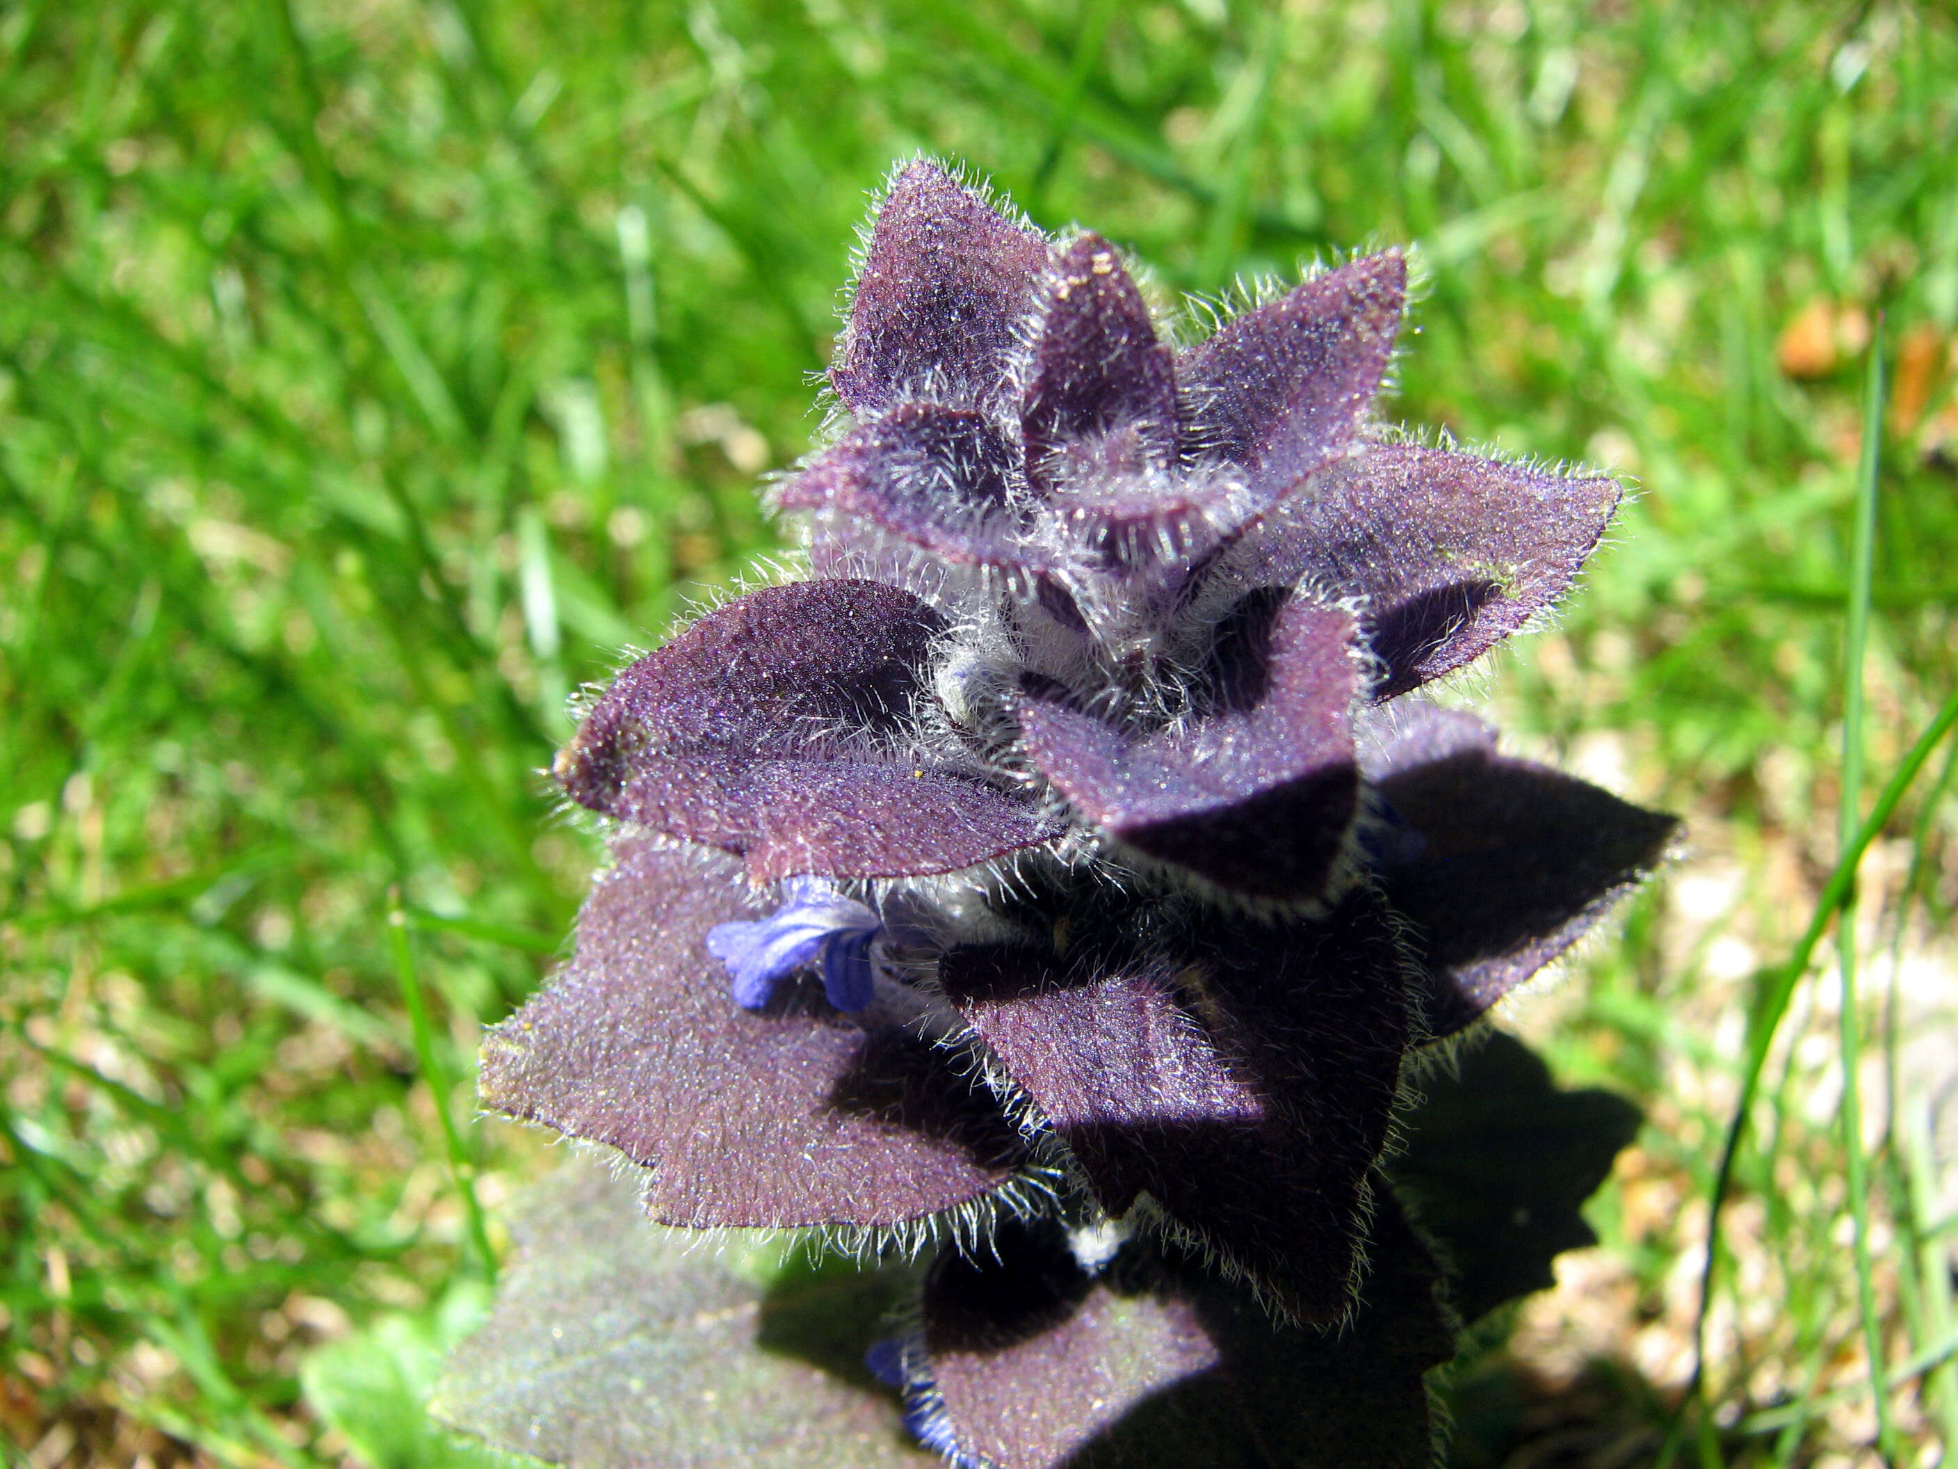
M 1604 1248 L 1455 1373 L 1451 1453 L 1660 1455 L 1747 1009 L 1839 850 L 1878 339 L 1870 787 L 1954 686 L 1948 6 L 10 0 L 0 127 L 8 1455 L 448 1461 L 302 1365 L 345 1338 L 411 1397 L 488 1269 L 470 1191 L 495 1250 L 546 1167 L 468 1073 L 597 856 L 538 776 L 564 695 L 773 545 L 756 476 L 918 149 L 1167 302 L 1414 243 L 1396 411 L 1637 476 L 1476 691 L 1692 823 L 1512 1019 L 1649 1126 Z M 1888 1457 L 1958 1434 L 1948 780 L 1862 868 L 1878 1330 L 1825 964 L 1739 1156 L 1696 1463 L 1874 1461 L 1870 1340 Z

